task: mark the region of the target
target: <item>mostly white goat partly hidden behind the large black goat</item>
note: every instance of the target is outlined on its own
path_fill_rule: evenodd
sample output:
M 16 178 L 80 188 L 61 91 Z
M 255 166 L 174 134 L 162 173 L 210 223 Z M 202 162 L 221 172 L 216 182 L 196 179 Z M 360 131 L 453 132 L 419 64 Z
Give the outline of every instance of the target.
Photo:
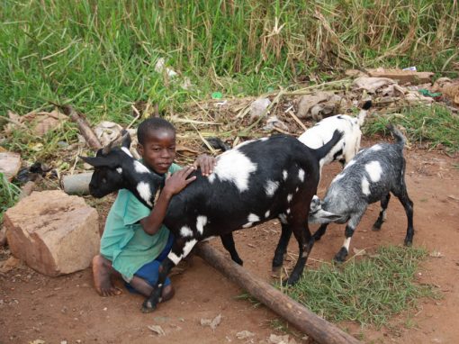
M 362 131 L 360 127 L 364 124 L 366 113 L 372 106 L 371 101 L 366 101 L 357 117 L 347 114 L 337 114 L 317 122 L 307 131 L 304 131 L 298 140 L 302 141 L 311 149 L 322 147 L 333 136 L 333 132 L 343 132 L 343 137 L 329 150 L 329 153 L 320 160 L 320 170 L 324 165 L 333 161 L 339 161 L 346 165 L 360 149 Z

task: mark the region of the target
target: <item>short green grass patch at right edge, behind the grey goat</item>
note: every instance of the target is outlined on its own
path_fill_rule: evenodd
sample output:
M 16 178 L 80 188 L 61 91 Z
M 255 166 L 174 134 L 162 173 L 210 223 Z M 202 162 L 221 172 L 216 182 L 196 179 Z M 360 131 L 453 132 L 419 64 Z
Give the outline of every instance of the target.
M 427 144 L 431 149 L 459 151 L 459 116 L 443 106 L 407 107 L 401 113 L 377 115 L 365 123 L 365 134 L 386 134 L 389 122 L 403 127 L 412 142 Z

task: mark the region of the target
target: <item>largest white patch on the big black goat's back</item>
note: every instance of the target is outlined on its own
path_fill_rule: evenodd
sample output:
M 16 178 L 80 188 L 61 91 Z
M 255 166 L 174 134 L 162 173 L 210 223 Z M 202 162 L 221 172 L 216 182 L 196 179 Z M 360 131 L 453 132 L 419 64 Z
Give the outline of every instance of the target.
M 250 173 L 256 170 L 257 164 L 247 158 L 244 153 L 238 149 L 231 149 L 220 155 L 209 181 L 213 183 L 215 177 L 219 177 L 221 181 L 233 182 L 240 192 L 244 192 L 248 189 Z

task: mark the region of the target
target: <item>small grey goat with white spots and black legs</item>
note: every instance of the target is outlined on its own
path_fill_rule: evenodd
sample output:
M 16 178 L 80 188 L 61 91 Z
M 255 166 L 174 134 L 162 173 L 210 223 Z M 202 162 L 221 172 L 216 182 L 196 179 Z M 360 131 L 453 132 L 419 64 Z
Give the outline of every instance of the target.
M 403 147 L 405 138 L 401 131 L 389 127 L 396 139 L 395 143 L 378 143 L 368 149 L 362 149 L 343 171 L 333 179 L 323 201 L 314 196 L 311 203 L 309 222 L 322 223 L 313 235 L 315 240 L 327 230 L 329 222 L 346 223 L 346 240 L 335 256 L 335 260 L 344 261 L 349 244 L 362 219 L 368 204 L 381 201 L 381 212 L 374 223 L 373 230 L 381 230 L 385 221 L 386 209 L 391 194 L 399 198 L 408 218 L 405 245 L 413 241 L 413 203 L 405 184 L 405 158 Z

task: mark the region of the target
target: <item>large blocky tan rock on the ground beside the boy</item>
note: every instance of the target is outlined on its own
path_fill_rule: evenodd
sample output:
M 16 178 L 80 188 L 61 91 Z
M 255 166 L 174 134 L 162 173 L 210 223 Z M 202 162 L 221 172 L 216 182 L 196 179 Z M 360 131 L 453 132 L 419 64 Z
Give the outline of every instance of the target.
M 60 190 L 33 192 L 4 213 L 11 253 L 47 276 L 89 267 L 99 252 L 98 213 Z

